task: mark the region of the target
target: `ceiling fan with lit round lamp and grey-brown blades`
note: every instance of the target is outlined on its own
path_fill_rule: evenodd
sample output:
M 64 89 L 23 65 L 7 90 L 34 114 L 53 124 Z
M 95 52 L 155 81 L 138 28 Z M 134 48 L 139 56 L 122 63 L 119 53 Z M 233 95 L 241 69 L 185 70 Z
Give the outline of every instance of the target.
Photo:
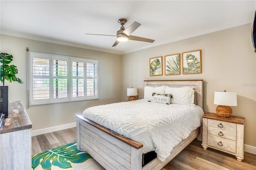
M 154 42 L 155 40 L 151 40 L 148 38 L 142 38 L 137 36 L 131 36 L 132 32 L 134 32 L 141 24 L 138 22 L 132 23 L 128 28 L 124 28 L 124 24 L 127 22 L 126 19 L 119 19 L 118 22 L 122 25 L 120 30 L 116 32 L 116 42 L 112 45 L 112 47 L 116 46 L 119 42 L 126 42 L 127 40 L 135 40 L 141 42 Z M 112 35 L 104 35 L 104 34 L 87 34 L 87 35 L 97 35 L 97 36 L 112 36 Z

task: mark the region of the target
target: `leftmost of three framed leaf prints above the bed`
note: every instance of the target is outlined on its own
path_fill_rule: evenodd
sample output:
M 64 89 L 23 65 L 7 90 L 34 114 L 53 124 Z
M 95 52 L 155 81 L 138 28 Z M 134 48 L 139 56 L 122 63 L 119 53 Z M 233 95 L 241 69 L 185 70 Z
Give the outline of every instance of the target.
M 150 76 L 163 75 L 162 56 L 149 59 Z

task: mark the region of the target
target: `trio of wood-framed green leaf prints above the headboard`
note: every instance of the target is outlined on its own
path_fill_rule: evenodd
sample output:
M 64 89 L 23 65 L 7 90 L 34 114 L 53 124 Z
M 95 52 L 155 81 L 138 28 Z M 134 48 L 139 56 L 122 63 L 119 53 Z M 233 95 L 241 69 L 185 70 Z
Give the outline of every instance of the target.
M 150 76 L 163 75 L 162 56 L 149 59 Z M 180 53 L 164 56 L 165 75 L 180 74 Z M 182 53 L 182 74 L 202 73 L 201 50 Z

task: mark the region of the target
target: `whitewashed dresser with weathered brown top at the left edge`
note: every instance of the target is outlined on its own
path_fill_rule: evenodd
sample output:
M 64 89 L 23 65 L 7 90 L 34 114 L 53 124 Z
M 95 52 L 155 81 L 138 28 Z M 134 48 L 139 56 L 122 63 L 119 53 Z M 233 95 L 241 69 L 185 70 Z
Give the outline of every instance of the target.
M 21 101 L 10 101 L 0 128 L 0 170 L 31 169 L 32 124 Z

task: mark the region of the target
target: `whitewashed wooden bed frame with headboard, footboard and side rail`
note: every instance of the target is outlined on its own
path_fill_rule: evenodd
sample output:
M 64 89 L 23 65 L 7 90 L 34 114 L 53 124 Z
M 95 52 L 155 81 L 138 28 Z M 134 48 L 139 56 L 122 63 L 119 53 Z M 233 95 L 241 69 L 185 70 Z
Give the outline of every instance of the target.
M 195 89 L 195 104 L 203 108 L 203 80 L 144 81 L 145 86 L 189 86 Z M 170 152 L 166 161 L 155 158 L 142 167 L 142 147 L 139 142 L 102 127 L 82 115 L 76 116 L 77 149 L 84 149 L 105 169 L 111 170 L 160 170 L 180 153 L 192 140 L 202 140 L 201 127 L 194 130 Z

